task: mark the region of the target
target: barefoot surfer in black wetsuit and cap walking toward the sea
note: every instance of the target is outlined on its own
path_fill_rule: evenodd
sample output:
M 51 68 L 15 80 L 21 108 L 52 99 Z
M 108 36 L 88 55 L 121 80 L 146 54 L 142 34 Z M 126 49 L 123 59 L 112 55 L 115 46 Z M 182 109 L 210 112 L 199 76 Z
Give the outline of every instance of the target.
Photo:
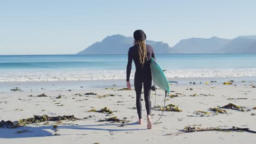
M 150 91 L 152 86 L 152 75 L 150 62 L 152 57 L 155 59 L 155 53 L 153 47 L 146 45 L 146 34 L 142 30 L 136 30 L 133 33 L 134 45 L 130 47 L 128 52 L 128 63 L 126 68 L 126 82 L 127 88 L 131 89 L 130 74 L 132 68 L 132 60 L 135 63 L 135 79 L 134 86 L 136 92 L 136 107 L 138 112 L 138 124 L 142 124 L 142 106 L 141 106 L 141 91 L 142 85 L 144 88 L 144 100 L 147 110 L 147 127 L 152 128 L 151 121 L 151 101 Z

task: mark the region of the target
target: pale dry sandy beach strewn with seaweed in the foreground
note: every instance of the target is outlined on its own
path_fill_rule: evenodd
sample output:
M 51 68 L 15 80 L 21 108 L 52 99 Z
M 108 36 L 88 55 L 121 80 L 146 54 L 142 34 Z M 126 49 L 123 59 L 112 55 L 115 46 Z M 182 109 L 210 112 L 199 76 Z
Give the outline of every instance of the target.
M 181 112 L 165 111 L 160 123 L 147 129 L 146 110 L 143 104 L 143 124 L 138 125 L 135 109 L 135 91 L 118 91 L 123 86 L 90 89 L 63 89 L 16 91 L 0 93 L 1 121 L 18 121 L 34 115 L 74 115 L 79 120 L 40 122 L 18 128 L 0 128 L 1 143 L 256 143 L 256 136 L 248 132 L 201 131 L 174 134 L 185 127 L 250 128 L 256 130 L 256 88 L 252 82 L 172 84 L 166 105 L 178 106 Z M 47 97 L 37 97 L 45 94 Z M 91 93 L 91 94 L 85 94 Z M 92 95 L 96 93 L 96 95 Z M 152 106 L 164 105 L 164 92 L 152 91 Z M 143 98 L 143 97 L 142 97 Z M 229 103 L 244 106 L 241 110 L 215 113 L 210 108 Z M 111 113 L 89 112 L 107 107 Z M 199 113 L 204 111 L 210 113 Z M 155 122 L 161 111 L 152 110 Z M 98 122 L 116 116 L 121 122 Z M 57 125 L 57 128 L 53 128 Z M 123 126 L 123 127 L 121 127 Z M 55 126 L 56 127 L 56 126 Z M 166 135 L 173 134 L 173 135 Z

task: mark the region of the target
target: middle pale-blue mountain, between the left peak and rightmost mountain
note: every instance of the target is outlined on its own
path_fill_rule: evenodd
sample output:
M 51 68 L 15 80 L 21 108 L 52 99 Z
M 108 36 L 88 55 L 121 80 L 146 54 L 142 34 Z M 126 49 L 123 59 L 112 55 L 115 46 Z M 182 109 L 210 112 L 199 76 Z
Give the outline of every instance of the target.
M 174 45 L 174 53 L 219 53 L 226 44 L 230 43 L 230 39 L 222 39 L 212 37 L 205 38 L 190 38 L 179 41 Z

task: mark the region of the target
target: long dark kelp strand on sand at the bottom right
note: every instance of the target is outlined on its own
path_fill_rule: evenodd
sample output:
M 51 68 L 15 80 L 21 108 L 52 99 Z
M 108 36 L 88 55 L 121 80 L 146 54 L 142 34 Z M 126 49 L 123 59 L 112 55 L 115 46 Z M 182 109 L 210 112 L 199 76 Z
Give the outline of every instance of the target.
M 219 127 L 208 127 L 208 128 L 200 128 L 200 127 L 185 127 L 183 130 L 180 130 L 181 132 L 178 133 L 167 133 L 166 135 L 178 135 L 178 134 L 184 134 L 184 133 L 192 133 L 192 132 L 199 132 L 199 131 L 223 131 L 223 132 L 229 132 L 229 131 L 246 131 L 249 133 L 256 134 L 256 131 L 249 130 L 249 128 L 238 128 L 238 127 L 232 127 L 229 129 L 222 129 Z

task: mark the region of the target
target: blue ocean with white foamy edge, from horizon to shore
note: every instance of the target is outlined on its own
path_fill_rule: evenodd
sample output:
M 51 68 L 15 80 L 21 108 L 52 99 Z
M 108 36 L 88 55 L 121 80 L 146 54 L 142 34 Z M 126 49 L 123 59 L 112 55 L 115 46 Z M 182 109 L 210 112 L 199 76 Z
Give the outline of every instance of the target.
M 173 77 L 256 76 L 256 54 L 156 55 Z M 127 55 L 0 56 L 0 82 L 126 79 Z M 131 79 L 135 71 L 132 65 Z

